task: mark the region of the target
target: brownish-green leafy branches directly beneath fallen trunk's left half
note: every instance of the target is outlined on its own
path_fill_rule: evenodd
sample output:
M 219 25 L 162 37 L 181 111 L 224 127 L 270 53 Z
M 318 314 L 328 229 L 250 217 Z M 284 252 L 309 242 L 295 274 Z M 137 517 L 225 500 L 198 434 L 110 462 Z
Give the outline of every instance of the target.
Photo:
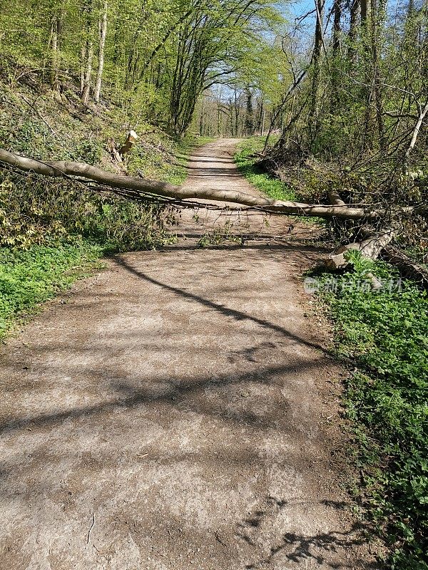
M 36 175 L 0 177 L 0 246 L 26 249 L 51 239 L 83 236 L 112 249 L 147 249 L 168 240 L 171 212 L 97 195 Z

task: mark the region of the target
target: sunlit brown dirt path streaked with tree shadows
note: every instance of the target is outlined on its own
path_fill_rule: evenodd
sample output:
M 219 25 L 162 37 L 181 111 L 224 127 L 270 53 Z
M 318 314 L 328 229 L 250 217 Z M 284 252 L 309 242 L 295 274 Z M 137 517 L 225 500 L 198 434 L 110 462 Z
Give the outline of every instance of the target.
M 188 184 L 255 192 L 230 145 Z M 301 284 L 319 252 L 193 241 L 114 257 L 3 349 L 1 570 L 370 567 Z

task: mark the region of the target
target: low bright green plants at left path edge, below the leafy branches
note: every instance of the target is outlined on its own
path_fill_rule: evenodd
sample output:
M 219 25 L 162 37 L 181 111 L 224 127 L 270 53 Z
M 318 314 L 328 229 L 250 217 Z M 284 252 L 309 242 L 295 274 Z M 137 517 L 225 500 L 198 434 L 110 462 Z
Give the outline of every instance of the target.
M 26 251 L 0 249 L 0 339 L 18 318 L 90 271 L 103 248 L 86 240 L 33 245 Z

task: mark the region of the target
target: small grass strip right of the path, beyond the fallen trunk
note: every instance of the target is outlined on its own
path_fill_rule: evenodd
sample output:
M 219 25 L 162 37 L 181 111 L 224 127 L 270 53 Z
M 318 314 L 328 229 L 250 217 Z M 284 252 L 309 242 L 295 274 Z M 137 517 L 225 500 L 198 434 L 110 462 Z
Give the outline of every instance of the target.
M 257 159 L 252 155 L 263 150 L 264 142 L 265 137 L 251 137 L 240 143 L 238 152 L 235 154 L 238 170 L 251 184 L 268 197 L 277 200 L 295 200 L 296 195 L 292 188 L 266 174 L 257 166 Z

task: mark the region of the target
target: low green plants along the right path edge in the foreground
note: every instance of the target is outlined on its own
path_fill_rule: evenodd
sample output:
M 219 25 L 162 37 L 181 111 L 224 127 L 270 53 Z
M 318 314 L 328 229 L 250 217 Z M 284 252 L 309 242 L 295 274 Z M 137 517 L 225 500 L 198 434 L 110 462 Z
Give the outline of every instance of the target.
M 401 291 L 372 291 L 367 271 L 387 280 L 397 275 L 352 255 L 355 271 L 337 277 L 337 291 L 322 296 L 335 322 L 337 354 L 356 366 L 345 410 L 363 474 L 360 493 L 389 546 L 387 567 L 427 570 L 428 298 L 411 281 Z

